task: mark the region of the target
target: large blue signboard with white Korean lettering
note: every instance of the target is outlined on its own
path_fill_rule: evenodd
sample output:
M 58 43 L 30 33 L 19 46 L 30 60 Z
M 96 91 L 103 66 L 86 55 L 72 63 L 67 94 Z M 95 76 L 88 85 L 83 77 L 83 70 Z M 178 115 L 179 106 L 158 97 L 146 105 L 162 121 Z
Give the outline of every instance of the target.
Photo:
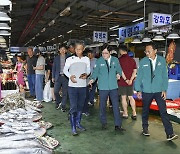
M 119 28 L 119 42 L 124 42 L 126 38 L 138 35 L 142 30 L 144 30 L 144 22 Z

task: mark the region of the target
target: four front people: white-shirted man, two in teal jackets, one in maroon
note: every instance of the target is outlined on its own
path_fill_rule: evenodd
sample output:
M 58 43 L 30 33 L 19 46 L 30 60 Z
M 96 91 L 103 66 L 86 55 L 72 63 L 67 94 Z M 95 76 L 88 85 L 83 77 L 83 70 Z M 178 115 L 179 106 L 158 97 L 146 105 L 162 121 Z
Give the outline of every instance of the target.
M 76 128 L 80 129 L 80 131 L 86 130 L 81 125 L 81 116 L 86 99 L 86 79 L 90 76 L 90 81 L 88 82 L 90 87 L 93 86 L 96 80 L 98 82 L 102 129 L 107 129 L 106 103 L 109 97 L 113 106 L 115 130 L 120 132 L 125 131 L 122 128 L 122 119 L 119 111 L 119 93 L 124 110 L 122 117 L 128 118 L 126 101 L 126 97 L 128 96 L 132 107 L 131 118 L 136 120 L 135 101 L 132 97 L 133 90 L 135 89 L 139 98 L 142 94 L 142 134 L 145 136 L 150 135 L 148 131 L 149 107 L 152 100 L 155 99 L 159 106 L 167 140 L 177 139 L 178 136 L 173 132 L 172 124 L 166 111 L 165 99 L 168 88 L 166 62 L 163 57 L 156 54 L 156 45 L 154 43 L 146 44 L 146 57 L 140 61 L 137 77 L 136 63 L 128 56 L 126 46 L 119 46 L 119 52 L 121 53 L 119 60 L 111 56 L 111 50 L 111 46 L 108 44 L 103 46 L 102 56 L 97 59 L 92 72 L 90 71 L 90 60 L 88 57 L 83 56 L 83 44 L 76 44 L 75 54 L 66 59 L 63 73 L 69 79 L 68 94 L 72 134 L 78 134 Z M 133 86 L 134 80 L 135 85 Z

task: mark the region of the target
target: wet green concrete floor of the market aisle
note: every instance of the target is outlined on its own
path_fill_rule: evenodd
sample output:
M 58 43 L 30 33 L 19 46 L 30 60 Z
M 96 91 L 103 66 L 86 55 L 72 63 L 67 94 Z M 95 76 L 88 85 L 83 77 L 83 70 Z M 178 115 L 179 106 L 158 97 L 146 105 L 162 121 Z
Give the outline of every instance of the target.
M 60 146 L 55 154 L 180 154 L 180 139 L 166 141 L 164 128 L 158 115 L 151 114 L 150 137 L 141 135 L 141 108 L 137 108 L 137 121 L 123 120 L 124 134 L 114 131 L 112 110 L 107 108 L 108 129 L 101 130 L 98 105 L 90 108 L 90 116 L 83 116 L 82 125 L 87 131 L 72 136 L 68 112 L 55 109 L 53 103 L 43 103 L 43 120 L 53 124 L 47 134 L 55 137 Z M 173 123 L 180 137 L 180 124 Z

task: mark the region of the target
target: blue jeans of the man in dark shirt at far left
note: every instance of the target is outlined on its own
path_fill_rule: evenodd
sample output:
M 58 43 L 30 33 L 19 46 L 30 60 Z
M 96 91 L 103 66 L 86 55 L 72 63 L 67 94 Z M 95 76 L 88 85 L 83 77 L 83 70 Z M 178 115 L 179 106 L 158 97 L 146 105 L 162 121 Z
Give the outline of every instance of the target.
M 31 96 L 35 96 L 35 74 L 28 74 L 28 85 L 29 85 L 29 91 Z

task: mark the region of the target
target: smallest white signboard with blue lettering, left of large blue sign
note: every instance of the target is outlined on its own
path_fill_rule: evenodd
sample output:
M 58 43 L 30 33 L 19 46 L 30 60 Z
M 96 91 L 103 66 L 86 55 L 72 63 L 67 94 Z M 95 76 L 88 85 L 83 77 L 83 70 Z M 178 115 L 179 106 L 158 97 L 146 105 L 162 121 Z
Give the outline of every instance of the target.
M 107 32 L 94 31 L 93 32 L 93 42 L 104 42 L 107 43 L 108 35 Z

